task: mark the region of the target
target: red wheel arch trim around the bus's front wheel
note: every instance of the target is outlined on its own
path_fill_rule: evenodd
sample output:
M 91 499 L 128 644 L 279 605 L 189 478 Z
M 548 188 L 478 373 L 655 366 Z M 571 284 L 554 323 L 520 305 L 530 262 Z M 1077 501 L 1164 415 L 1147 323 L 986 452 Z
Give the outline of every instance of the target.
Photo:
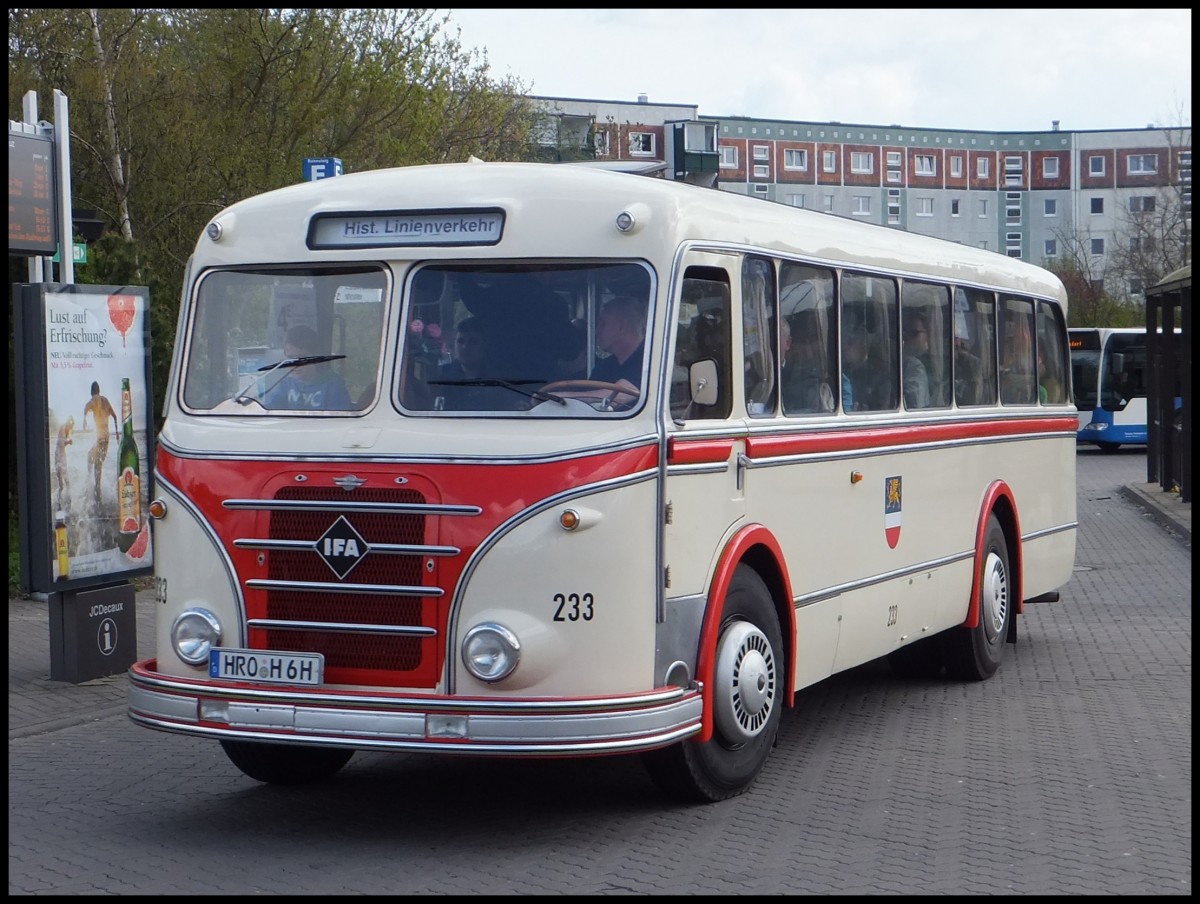
M 725 594 L 738 565 L 748 565 L 762 579 L 770 593 L 775 616 L 784 636 L 782 669 L 785 676 L 784 705 L 791 706 L 796 693 L 793 683 L 796 657 L 796 609 L 792 606 L 792 585 L 784 565 L 784 552 L 775 535 L 762 525 L 746 525 L 738 529 L 721 551 L 713 580 L 708 588 L 708 604 L 700 630 L 700 647 L 696 655 L 696 678 L 701 682 L 704 701 L 701 732 L 696 741 L 708 741 L 713 736 L 713 667 L 716 658 L 716 641 L 721 629 L 721 612 Z

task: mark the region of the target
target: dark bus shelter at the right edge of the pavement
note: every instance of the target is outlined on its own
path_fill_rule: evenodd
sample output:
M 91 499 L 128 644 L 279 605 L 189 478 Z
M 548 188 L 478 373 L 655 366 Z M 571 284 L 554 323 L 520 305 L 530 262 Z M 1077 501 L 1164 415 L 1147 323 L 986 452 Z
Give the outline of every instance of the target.
M 1146 289 L 1146 480 L 1192 502 L 1190 264 Z

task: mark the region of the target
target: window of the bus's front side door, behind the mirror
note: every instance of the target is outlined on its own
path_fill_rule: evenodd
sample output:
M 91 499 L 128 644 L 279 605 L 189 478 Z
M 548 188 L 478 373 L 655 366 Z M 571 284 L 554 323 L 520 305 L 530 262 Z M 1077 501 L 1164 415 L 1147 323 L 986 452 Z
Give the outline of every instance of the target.
M 718 268 L 689 269 L 683 281 L 680 321 L 676 336 L 676 366 L 671 378 L 671 414 L 676 419 L 730 415 L 733 397 L 730 313 L 727 274 Z M 715 405 L 700 405 L 691 399 L 688 369 L 704 358 L 716 361 L 719 378 Z

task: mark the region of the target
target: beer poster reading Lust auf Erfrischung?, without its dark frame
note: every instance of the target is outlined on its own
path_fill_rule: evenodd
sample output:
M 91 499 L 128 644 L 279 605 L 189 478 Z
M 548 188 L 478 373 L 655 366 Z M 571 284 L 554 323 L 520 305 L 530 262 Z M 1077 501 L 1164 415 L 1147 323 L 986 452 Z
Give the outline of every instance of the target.
M 80 587 L 152 571 L 149 291 L 42 287 L 47 574 Z

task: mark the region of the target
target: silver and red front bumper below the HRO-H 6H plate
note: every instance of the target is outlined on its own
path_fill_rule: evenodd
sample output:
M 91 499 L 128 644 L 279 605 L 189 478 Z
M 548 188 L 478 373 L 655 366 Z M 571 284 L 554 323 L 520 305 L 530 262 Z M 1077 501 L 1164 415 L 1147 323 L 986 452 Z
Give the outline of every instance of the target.
M 505 756 L 649 750 L 701 730 L 701 690 L 586 699 L 402 696 L 247 686 L 130 667 L 130 718 L 217 740 Z

